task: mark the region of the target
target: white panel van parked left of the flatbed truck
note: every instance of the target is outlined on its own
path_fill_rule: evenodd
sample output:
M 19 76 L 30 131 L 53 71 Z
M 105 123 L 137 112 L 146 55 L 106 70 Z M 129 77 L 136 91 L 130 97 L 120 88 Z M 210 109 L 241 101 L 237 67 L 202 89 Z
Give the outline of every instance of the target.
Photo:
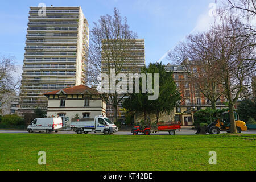
M 46 131 L 46 133 L 51 133 L 52 131 L 58 132 L 62 129 L 62 119 L 61 118 L 38 118 L 34 119 L 27 127 L 29 133 L 34 133 L 35 131 Z

